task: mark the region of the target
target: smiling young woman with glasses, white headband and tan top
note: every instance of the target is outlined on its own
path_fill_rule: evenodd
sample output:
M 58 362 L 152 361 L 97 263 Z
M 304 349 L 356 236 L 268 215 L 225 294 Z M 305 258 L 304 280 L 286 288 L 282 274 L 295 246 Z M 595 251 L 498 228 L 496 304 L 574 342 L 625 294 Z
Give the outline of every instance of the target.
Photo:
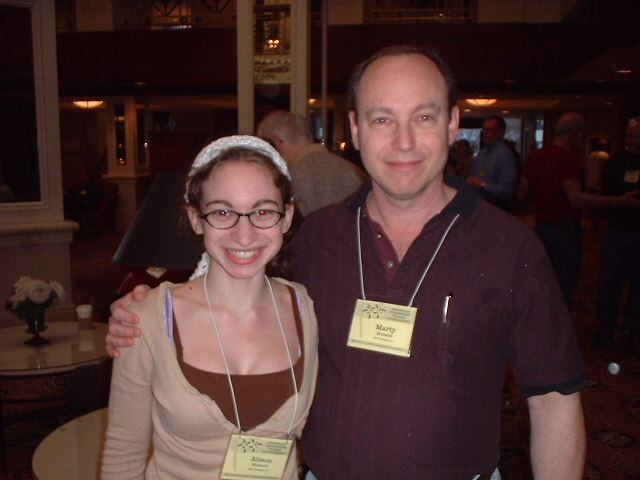
M 295 479 L 317 329 L 304 287 L 265 275 L 293 217 L 286 164 L 256 137 L 221 138 L 185 200 L 206 251 L 190 281 L 133 304 L 143 333 L 114 361 L 102 478 Z

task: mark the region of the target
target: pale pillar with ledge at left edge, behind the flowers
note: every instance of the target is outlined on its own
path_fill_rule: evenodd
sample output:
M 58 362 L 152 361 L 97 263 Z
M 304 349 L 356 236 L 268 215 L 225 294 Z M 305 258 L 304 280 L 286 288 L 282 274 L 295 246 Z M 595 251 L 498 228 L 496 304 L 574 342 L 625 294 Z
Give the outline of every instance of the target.
M 16 6 L 0 0 L 5 4 L 31 13 L 40 200 L 0 204 L 0 301 L 4 305 L 20 276 L 57 280 L 67 295 L 47 310 L 47 319 L 70 319 L 74 309 L 69 243 L 78 225 L 64 220 L 54 2 L 22 0 Z M 2 325 L 15 318 L 0 310 Z

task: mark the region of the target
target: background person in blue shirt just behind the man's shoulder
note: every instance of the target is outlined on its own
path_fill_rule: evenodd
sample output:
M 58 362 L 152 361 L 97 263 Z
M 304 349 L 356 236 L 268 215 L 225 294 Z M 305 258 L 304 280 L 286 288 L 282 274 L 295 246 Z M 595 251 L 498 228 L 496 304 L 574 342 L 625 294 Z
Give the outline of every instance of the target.
M 518 184 L 518 161 L 504 142 L 507 124 L 500 115 L 489 115 L 482 125 L 484 147 L 473 160 L 467 178 L 478 194 L 508 210 Z

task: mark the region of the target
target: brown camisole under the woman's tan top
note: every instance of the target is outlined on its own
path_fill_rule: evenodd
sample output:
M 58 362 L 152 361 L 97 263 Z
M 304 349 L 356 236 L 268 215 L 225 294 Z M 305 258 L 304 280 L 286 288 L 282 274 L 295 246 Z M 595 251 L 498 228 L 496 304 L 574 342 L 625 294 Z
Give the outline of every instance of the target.
M 300 310 L 296 299 L 295 290 L 288 287 L 291 293 L 293 314 L 296 320 L 296 330 L 300 345 L 300 358 L 294 363 L 293 370 L 296 376 L 298 389 L 302 385 L 304 373 L 304 350 L 302 348 L 303 331 Z M 187 381 L 200 393 L 209 396 L 216 402 L 225 418 L 234 425 L 236 416 L 233 409 L 233 399 L 229 380 L 226 373 L 214 373 L 200 370 L 183 360 L 182 342 L 176 319 L 173 322 L 173 335 L 175 339 L 178 364 Z M 255 428 L 268 420 L 280 406 L 293 395 L 293 381 L 289 368 L 273 373 L 261 375 L 231 375 L 233 389 L 238 402 L 238 414 L 244 431 Z

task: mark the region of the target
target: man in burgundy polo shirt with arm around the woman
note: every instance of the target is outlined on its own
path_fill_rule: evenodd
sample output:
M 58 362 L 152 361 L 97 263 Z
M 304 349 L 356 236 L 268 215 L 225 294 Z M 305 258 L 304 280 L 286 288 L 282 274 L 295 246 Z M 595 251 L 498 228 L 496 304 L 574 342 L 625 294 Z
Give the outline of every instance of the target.
M 320 331 L 307 478 L 499 479 L 510 362 L 534 476 L 581 479 L 587 377 L 568 312 L 531 229 L 445 181 L 459 125 L 446 64 L 388 47 L 356 67 L 349 91 L 371 185 L 311 215 L 291 243 Z M 127 301 L 112 306 L 115 356 L 140 334 Z

